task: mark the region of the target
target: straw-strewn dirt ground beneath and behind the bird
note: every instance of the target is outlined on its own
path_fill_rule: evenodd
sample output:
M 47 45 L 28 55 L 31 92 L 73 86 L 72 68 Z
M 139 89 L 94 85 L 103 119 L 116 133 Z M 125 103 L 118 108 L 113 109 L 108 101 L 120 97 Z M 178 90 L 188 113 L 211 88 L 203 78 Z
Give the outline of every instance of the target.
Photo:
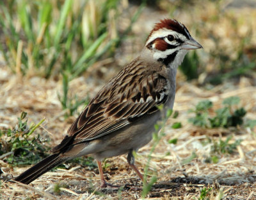
M 135 8 L 134 8 L 135 9 Z M 162 11 L 152 11 L 147 8 L 134 25 L 132 30 L 135 38 L 127 41 L 116 52 L 115 59 L 97 62 L 84 76 L 72 80 L 70 95 L 78 97 L 93 97 L 109 78 L 116 74 L 122 66 L 140 51 L 142 47 L 140 33 L 141 23 L 145 23 L 145 32 L 150 31 L 152 24 L 160 18 L 168 16 Z M 148 15 L 150 13 L 150 15 Z M 148 19 L 147 17 L 150 16 Z M 180 20 L 186 17 L 177 16 Z M 147 19 L 147 20 L 145 20 Z M 146 34 L 146 33 L 145 33 Z M 205 39 L 202 45 L 207 43 Z M 207 51 L 207 45 L 205 51 Z M 127 54 L 129 52 L 129 54 Z M 104 66 L 102 64 L 104 63 Z M 104 76 L 102 76 L 104 74 Z M 1 129 L 15 126 L 21 111 L 28 112 L 29 122 L 39 122 L 42 138 L 51 138 L 51 143 L 57 145 L 69 125 L 76 118 L 65 119 L 58 101 L 61 91 L 61 81 L 44 80 L 40 77 L 19 79 L 13 75 L 7 66 L 0 68 L 0 125 Z M 188 110 L 203 99 L 214 103 L 214 110 L 220 108 L 223 99 L 239 96 L 248 113 L 246 118 L 256 117 L 256 86 L 253 78 L 240 78 L 236 82 L 228 81 L 211 90 L 198 86 L 194 82 L 186 82 L 179 72 L 177 76 L 177 95 L 173 110 L 179 111 L 178 118 L 170 118 L 164 128 L 165 136 L 161 139 L 152 154 L 149 165 L 151 174 L 157 176 L 157 182 L 147 195 L 148 199 L 198 199 L 200 190 L 212 188 L 207 193 L 209 199 L 256 199 L 256 141 L 253 132 L 256 129 L 202 129 L 188 123 Z M 83 110 L 83 106 L 79 111 Z M 172 129 L 173 122 L 181 122 L 180 129 Z M 234 154 L 221 155 L 217 164 L 205 162 L 211 151 L 211 145 L 202 145 L 207 138 L 218 140 L 232 135 L 230 142 L 242 139 Z M 177 138 L 177 144 L 168 143 L 169 139 Z M 136 165 L 143 172 L 147 164 L 152 143 L 141 148 L 136 158 Z M 190 162 L 184 162 L 192 153 L 196 157 Z M 167 154 L 168 153 L 168 154 Z M 3 182 L 0 186 L 0 199 L 140 199 L 142 183 L 136 173 L 129 169 L 126 155 L 106 159 L 104 176 L 109 183 L 119 185 L 118 189 L 99 189 L 100 179 L 97 168 L 58 169 L 48 172 L 29 185 L 15 182 Z M 19 175 L 27 169 L 12 167 L 0 161 L 2 177 Z M 54 184 L 60 185 L 60 194 L 54 194 Z

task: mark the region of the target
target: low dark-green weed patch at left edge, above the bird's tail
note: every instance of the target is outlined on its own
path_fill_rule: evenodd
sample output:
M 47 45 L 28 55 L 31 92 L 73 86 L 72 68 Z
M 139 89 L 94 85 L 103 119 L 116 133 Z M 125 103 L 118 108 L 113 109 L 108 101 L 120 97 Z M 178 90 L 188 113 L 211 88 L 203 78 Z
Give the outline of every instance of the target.
M 0 131 L 0 157 L 9 164 L 31 164 L 47 156 L 47 139 L 40 138 L 39 134 L 33 134 L 44 119 L 38 124 L 28 124 L 26 115 L 26 112 L 21 113 L 15 129 Z

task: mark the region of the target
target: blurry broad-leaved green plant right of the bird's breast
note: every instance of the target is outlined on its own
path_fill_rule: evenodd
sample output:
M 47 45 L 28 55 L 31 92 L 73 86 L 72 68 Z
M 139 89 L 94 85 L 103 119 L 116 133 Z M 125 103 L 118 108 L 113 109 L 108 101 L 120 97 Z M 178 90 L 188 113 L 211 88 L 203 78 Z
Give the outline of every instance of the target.
M 234 109 L 234 106 L 239 103 L 239 97 L 228 97 L 223 100 L 223 108 L 215 111 L 215 116 L 211 117 L 209 111 L 212 110 L 212 102 L 209 100 L 201 101 L 196 105 L 191 113 L 195 113 L 195 117 L 189 118 L 189 122 L 199 127 L 236 127 L 244 124 L 244 116 L 246 111 L 244 108 Z M 253 124 L 253 123 L 252 123 Z M 246 124 L 245 124 L 246 125 Z

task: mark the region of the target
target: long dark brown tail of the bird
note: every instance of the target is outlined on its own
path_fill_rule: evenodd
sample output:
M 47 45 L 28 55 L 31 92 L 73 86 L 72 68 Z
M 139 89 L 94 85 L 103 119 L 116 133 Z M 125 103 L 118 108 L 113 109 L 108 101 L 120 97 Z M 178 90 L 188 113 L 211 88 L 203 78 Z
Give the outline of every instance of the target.
M 61 157 L 60 154 L 49 155 L 44 160 L 38 162 L 33 167 L 24 171 L 24 173 L 15 178 L 15 180 L 17 182 L 29 184 L 39 176 L 43 175 L 47 171 L 50 171 L 52 168 L 55 168 L 56 166 L 67 160 L 67 158 Z

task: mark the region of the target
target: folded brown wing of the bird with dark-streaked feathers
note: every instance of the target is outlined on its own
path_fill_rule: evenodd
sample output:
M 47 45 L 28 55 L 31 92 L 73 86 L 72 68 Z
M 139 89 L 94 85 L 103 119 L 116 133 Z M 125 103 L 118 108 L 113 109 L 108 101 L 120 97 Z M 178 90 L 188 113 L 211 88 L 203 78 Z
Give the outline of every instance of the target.
M 137 68 L 142 69 L 143 66 Z M 100 90 L 70 126 L 68 136 L 74 136 L 75 143 L 121 129 L 143 115 L 156 112 L 157 105 L 168 99 L 168 82 L 164 76 L 156 71 L 153 75 L 145 75 L 140 69 L 126 70 Z

